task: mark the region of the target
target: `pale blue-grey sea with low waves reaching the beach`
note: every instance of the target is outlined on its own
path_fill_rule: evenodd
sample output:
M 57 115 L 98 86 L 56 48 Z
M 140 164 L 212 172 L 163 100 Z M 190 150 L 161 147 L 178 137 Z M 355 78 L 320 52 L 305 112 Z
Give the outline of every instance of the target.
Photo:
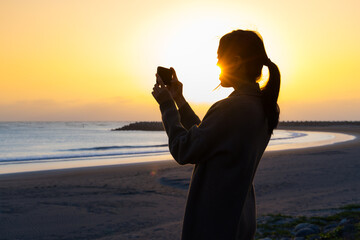
M 0 174 L 171 159 L 164 131 L 111 131 L 128 123 L 0 122 Z M 334 138 L 275 130 L 268 150 Z

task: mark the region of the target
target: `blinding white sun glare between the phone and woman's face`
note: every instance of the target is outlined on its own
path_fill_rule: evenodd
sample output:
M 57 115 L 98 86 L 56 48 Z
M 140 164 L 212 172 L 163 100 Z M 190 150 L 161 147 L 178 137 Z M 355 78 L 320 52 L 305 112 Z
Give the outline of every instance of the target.
M 174 67 L 184 85 L 184 96 L 195 103 L 212 103 L 229 95 L 219 85 L 217 48 L 222 35 L 231 29 L 218 20 L 197 19 L 176 26 L 161 48 L 163 62 Z

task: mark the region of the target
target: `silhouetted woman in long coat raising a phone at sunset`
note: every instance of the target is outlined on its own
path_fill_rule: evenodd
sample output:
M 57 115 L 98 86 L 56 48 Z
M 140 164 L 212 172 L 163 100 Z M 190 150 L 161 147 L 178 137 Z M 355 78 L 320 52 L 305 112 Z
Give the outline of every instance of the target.
M 156 75 L 152 92 L 160 105 L 172 156 L 179 164 L 195 164 L 184 240 L 254 238 L 253 179 L 279 119 L 280 73 L 258 34 L 237 30 L 223 36 L 218 65 L 221 86 L 232 87 L 234 92 L 211 106 L 202 121 L 185 101 L 174 69 L 169 86 Z M 270 76 L 260 89 L 257 81 L 264 65 Z

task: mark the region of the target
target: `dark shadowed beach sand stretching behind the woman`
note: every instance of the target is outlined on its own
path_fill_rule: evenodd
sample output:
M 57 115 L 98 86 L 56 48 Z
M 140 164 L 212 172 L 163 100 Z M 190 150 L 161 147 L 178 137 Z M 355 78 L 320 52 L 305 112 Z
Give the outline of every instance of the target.
M 360 127 L 345 143 L 265 153 L 258 216 L 360 203 Z M 0 175 L 0 239 L 179 239 L 192 166 L 174 161 Z

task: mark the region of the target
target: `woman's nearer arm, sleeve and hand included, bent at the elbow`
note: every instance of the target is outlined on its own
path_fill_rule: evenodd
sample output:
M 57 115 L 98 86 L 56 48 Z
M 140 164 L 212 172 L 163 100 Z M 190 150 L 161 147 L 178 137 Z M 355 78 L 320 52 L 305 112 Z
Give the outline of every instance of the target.
M 169 150 L 181 165 L 206 161 L 212 154 L 223 152 L 228 147 L 229 129 L 233 126 L 233 109 L 215 103 L 206 113 L 201 124 L 185 129 L 180 123 L 180 114 L 173 97 L 161 78 L 153 88 L 153 96 L 160 105 L 162 121 L 169 137 Z M 228 151 L 226 151 L 228 152 Z M 223 153 L 224 154 L 224 153 Z M 227 154 L 227 153 L 226 153 Z

